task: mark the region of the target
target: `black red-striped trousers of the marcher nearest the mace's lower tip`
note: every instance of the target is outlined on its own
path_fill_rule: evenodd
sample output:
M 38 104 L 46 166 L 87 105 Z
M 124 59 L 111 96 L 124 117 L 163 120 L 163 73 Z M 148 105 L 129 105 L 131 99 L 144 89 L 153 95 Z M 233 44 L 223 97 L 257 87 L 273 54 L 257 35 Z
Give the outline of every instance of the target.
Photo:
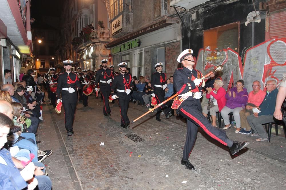
M 130 95 L 127 95 L 125 92 L 117 92 L 118 98 L 118 105 L 120 109 L 120 116 L 121 116 L 121 121 L 120 121 L 120 126 L 127 126 L 130 124 L 130 120 L 127 116 L 127 110 L 128 110 L 128 105 L 129 105 L 129 100 L 131 98 Z

